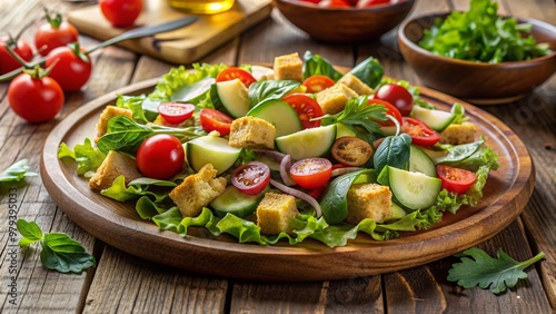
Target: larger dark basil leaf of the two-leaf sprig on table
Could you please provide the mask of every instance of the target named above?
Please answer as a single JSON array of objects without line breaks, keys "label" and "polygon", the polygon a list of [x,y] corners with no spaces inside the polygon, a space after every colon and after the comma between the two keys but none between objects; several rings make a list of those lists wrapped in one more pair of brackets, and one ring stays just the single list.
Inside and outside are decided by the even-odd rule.
[{"label": "larger dark basil leaf of the two-leaf sprig on table", "polygon": [[49,233],[41,241],[40,261],[44,267],[60,273],[81,273],[97,264],[95,256],[67,234]]}]

